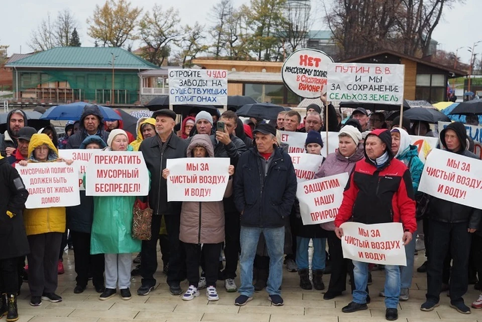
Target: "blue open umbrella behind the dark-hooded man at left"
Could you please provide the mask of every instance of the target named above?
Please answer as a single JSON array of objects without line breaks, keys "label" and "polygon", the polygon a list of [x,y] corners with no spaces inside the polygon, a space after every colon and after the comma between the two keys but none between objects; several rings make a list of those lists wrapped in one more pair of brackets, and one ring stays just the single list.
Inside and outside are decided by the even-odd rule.
[{"label": "blue open umbrella behind the dark-hooded man at left", "polygon": [[[57,121],[69,121],[79,120],[82,110],[85,105],[90,105],[85,102],[75,102],[71,104],[57,105],[49,108],[40,119],[57,120]],[[104,118],[104,121],[115,121],[121,119],[110,107],[99,106],[100,112]]]}]

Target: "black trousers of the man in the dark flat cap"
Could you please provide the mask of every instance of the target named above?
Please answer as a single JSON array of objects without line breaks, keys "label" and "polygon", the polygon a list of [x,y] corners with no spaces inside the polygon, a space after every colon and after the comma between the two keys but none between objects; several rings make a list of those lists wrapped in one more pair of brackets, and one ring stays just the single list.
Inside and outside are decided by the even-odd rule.
[{"label": "black trousers of the man in the dark flat cap", "polygon": [[[142,241],[141,250],[141,275],[143,285],[156,285],[154,273],[157,270],[157,240],[161,230],[161,216],[152,216],[152,238]],[[166,230],[169,238],[169,271],[167,273],[167,283],[169,285],[179,285],[186,274],[186,261],[184,247],[179,240],[180,215],[165,216]],[[219,254],[218,254],[219,256]],[[217,261],[216,261],[217,263]]]}]

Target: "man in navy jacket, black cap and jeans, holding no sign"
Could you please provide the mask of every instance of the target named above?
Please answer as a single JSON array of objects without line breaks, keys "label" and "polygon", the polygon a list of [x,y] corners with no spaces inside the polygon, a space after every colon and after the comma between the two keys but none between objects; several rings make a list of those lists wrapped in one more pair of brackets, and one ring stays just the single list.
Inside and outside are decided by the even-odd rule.
[{"label": "man in navy jacket, black cap and jeans, holding no sign", "polygon": [[273,305],[283,305],[285,217],[295,200],[296,175],[291,157],[277,145],[273,126],[259,124],[253,134],[256,145],[239,158],[234,177],[234,203],[241,213],[241,286],[234,304],[245,305],[252,299],[253,261],[263,233],[270,256],[266,290]]}]

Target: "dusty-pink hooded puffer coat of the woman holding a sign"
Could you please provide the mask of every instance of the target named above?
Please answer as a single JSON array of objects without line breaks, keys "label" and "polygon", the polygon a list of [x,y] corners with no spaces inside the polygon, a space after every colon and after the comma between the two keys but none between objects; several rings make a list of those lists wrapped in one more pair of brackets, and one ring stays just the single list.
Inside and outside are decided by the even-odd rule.
[{"label": "dusty-pink hooded puffer coat of the woman holding a sign", "polygon": [[[214,157],[214,149],[207,134],[196,134],[187,147],[186,154],[192,157],[192,149],[203,146]],[[232,180],[227,183],[224,197],[232,193]],[[217,244],[224,241],[224,207],[222,201],[184,201],[181,208],[179,239],[190,244]]]}]

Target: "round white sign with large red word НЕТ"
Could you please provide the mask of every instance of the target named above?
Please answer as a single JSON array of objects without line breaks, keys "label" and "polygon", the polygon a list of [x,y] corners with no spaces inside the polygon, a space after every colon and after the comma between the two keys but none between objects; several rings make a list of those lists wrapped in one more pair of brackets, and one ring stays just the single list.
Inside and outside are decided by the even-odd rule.
[{"label": "round white sign with large red word \u041d\u0415\u0422", "polygon": [[326,93],[328,64],[333,59],[320,50],[298,49],[281,68],[283,83],[293,93],[304,98],[318,98]]}]

